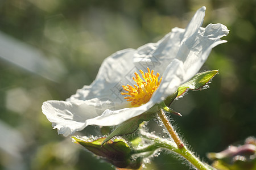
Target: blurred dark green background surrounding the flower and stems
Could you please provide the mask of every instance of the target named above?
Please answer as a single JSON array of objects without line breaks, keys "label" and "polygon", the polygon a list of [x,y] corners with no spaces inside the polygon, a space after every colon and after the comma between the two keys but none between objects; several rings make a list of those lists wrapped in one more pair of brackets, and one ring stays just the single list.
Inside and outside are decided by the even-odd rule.
[{"label": "blurred dark green background surrounding the flower and stems", "polygon": [[[210,88],[175,101],[177,130],[208,163],[208,152],[255,136],[255,0],[1,0],[0,169],[114,169],[57,135],[43,101],[67,99],[92,83],[104,58],[185,28],[201,6],[204,27],[222,23],[230,33],[202,68],[220,71]],[[162,153],[146,167],[188,169],[181,162]]]}]

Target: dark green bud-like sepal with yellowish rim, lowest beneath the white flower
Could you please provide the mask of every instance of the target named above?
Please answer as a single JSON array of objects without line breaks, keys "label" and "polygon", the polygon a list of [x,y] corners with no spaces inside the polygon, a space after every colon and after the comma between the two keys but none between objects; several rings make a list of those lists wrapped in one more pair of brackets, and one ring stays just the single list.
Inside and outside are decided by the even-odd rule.
[{"label": "dark green bud-like sepal with yellowish rim, lowest beneath the white flower", "polygon": [[93,154],[100,156],[107,162],[118,168],[138,169],[142,165],[142,159],[133,159],[133,148],[131,148],[125,139],[115,138],[109,140],[102,146],[105,138],[90,139],[72,137],[75,143],[79,143]]}]

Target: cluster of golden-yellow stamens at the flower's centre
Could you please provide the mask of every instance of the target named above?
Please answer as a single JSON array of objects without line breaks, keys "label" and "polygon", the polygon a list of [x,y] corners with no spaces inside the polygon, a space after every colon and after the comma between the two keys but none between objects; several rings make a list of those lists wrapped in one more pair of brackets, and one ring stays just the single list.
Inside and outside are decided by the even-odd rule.
[{"label": "cluster of golden-yellow stamens at the flower's centre", "polygon": [[154,75],[154,70],[150,71],[148,68],[147,71],[147,73],[144,73],[142,70],[139,70],[144,80],[138,73],[134,73],[135,77],[133,77],[133,80],[137,83],[137,85],[133,85],[134,87],[129,84],[127,84],[127,86],[122,86],[123,90],[127,92],[122,92],[121,94],[128,95],[124,98],[127,101],[131,101],[132,107],[139,107],[140,105],[147,103],[161,83],[162,77],[158,81],[159,73]]}]

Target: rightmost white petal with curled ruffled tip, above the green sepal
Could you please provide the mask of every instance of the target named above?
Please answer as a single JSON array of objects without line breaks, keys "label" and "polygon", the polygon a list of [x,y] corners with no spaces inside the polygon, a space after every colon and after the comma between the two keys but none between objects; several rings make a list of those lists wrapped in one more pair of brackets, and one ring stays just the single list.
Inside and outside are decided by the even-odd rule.
[{"label": "rightmost white petal with curled ruffled tip, above the green sepal", "polygon": [[214,46],[226,42],[220,38],[228,35],[228,32],[225,25],[209,24],[206,28],[200,28],[196,36],[183,42],[176,58],[184,63],[184,82],[200,70]]}]

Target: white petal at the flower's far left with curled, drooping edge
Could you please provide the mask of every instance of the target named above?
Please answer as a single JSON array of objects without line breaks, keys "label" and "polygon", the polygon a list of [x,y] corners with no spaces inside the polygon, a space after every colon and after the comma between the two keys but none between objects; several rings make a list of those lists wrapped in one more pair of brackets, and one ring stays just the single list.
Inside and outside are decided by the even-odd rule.
[{"label": "white petal at the flower's far left with curled, drooping edge", "polygon": [[102,112],[112,109],[119,110],[126,108],[128,103],[117,104],[110,99],[100,100],[98,98],[90,100],[72,100],[72,101],[56,101],[49,100],[43,103],[42,111],[52,122],[53,129],[58,130],[59,134],[64,136],[75,133],[84,129],[92,123],[87,122],[91,118],[105,117],[107,114]]}]

